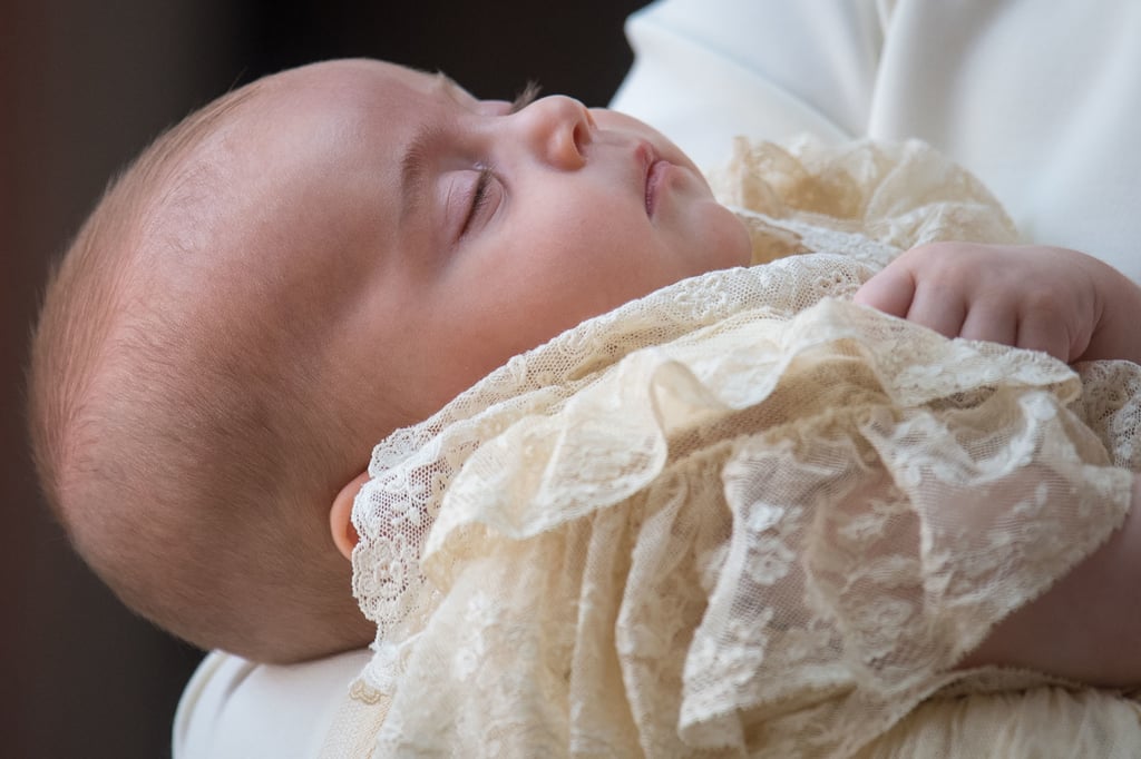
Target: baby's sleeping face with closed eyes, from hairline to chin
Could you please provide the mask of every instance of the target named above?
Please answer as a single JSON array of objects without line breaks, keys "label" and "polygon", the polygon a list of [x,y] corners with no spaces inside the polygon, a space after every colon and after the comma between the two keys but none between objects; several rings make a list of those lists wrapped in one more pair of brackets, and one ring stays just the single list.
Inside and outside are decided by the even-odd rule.
[{"label": "baby's sleeping face with closed eyes, from hairline to chin", "polygon": [[237,268],[307,293],[268,301],[348,375],[383,374],[356,390],[386,392],[398,423],[583,319],[748,262],[677,147],[566,97],[516,108],[332,62],[264,81],[224,144],[246,209]]}]

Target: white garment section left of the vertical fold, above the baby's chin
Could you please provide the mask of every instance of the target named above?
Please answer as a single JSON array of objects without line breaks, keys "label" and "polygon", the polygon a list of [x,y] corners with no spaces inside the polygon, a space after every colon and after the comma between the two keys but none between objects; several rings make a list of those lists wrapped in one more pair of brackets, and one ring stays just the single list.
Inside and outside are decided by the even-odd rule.
[{"label": "white garment section left of the vertical fold, above the baby's chin", "polygon": [[723,161],[736,134],[863,134],[888,5],[659,0],[626,21],[634,63],[610,107],[706,166]]}]

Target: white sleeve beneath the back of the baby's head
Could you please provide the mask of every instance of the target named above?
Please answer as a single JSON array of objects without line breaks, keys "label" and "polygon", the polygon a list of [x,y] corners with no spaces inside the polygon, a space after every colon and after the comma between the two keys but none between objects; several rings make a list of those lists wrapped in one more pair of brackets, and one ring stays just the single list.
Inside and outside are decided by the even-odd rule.
[{"label": "white sleeve beneath the back of the baby's head", "polygon": [[175,715],[175,759],[310,759],[322,745],[367,650],[304,664],[256,664],[211,652]]}]

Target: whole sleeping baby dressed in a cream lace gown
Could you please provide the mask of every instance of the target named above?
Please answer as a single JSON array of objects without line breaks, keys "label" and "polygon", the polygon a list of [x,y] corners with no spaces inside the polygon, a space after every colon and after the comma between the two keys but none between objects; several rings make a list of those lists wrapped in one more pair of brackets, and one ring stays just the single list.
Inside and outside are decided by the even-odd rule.
[{"label": "whole sleeping baby dressed in a cream lace gown", "polygon": [[378,62],[227,95],[49,286],[49,500],[191,643],[374,642],[334,752],[826,756],[1135,682],[1138,379],[1067,362],[1136,359],[1141,292],[917,144],[734,171]]}]

